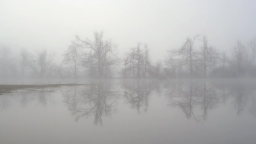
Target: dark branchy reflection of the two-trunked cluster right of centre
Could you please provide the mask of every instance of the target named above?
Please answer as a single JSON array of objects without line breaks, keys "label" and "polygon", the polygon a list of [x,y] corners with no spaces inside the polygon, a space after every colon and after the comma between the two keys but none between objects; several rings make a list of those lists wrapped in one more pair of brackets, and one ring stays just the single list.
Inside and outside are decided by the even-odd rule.
[{"label": "dark branchy reflection of the two-trunked cluster right of centre", "polygon": [[[209,87],[206,83],[203,85],[184,84],[183,87],[176,89],[176,94],[173,96],[179,99],[173,100],[171,105],[180,107],[188,119],[193,117],[198,122],[201,118],[206,120],[208,109],[214,108],[219,99],[216,89]],[[198,106],[201,106],[203,115],[195,115],[193,109]]]}]

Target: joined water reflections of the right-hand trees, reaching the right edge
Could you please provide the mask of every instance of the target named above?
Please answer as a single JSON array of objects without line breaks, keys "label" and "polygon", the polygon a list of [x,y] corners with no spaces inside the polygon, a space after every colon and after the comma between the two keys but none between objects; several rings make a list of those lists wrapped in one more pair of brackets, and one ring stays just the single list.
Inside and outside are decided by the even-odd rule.
[{"label": "joined water reflections of the right-hand trees, reaching the right edge", "polygon": [[[256,95],[252,85],[244,83],[212,84],[207,81],[189,83],[168,83],[164,85],[165,96],[170,99],[170,106],[181,108],[188,119],[205,121],[208,111],[233,99],[237,115],[248,106],[249,112],[256,113]],[[197,114],[195,114],[195,109]],[[199,109],[199,110],[198,110]],[[198,112],[201,111],[201,112]]]}]

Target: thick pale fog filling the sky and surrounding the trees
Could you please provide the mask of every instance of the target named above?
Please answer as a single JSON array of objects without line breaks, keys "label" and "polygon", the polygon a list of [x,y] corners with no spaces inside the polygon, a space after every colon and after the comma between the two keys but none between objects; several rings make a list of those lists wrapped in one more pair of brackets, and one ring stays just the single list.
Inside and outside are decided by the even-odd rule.
[{"label": "thick pale fog filling the sky and surrounding the trees", "polygon": [[[224,77],[224,71],[234,69],[245,72],[230,77],[252,76],[249,73],[254,71],[256,54],[255,5],[254,0],[1,0],[0,59],[1,69],[6,71],[1,72],[1,77],[6,77],[5,73],[8,77],[92,76],[88,73],[94,73],[94,77],[155,77],[160,73],[160,77],[209,77],[213,70],[218,73],[215,77]],[[90,58],[97,53],[91,51],[88,43],[82,43],[87,40],[95,44],[94,34],[101,32],[102,43],[111,40],[108,60]],[[189,48],[188,37],[191,42],[195,39],[192,59],[178,52],[184,45]],[[76,75],[74,61],[65,60],[65,53],[67,56],[74,43],[80,49]],[[214,48],[210,48],[214,56],[205,57],[206,62],[202,47]],[[144,64],[131,56],[136,48],[143,53],[138,58]],[[21,53],[27,59],[22,59]],[[129,53],[133,59],[129,59]],[[40,56],[45,57],[43,66]],[[88,61],[97,68],[90,68]],[[103,61],[108,61],[107,66]],[[133,61],[132,66],[128,61]],[[221,65],[225,68],[220,69]],[[126,66],[130,70],[125,70]],[[111,75],[106,71],[111,71]],[[182,75],[170,74],[173,72]]]}]

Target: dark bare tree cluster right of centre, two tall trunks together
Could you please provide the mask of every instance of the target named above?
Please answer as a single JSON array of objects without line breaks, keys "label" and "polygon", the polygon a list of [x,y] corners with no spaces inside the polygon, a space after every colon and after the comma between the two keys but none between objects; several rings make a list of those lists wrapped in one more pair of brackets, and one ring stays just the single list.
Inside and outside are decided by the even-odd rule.
[{"label": "dark bare tree cluster right of centre, two tall trunks together", "polygon": [[[195,43],[199,46],[196,48]],[[218,64],[219,53],[206,36],[188,37],[181,48],[168,51],[164,69],[167,77],[208,77]],[[179,74],[179,75],[177,75]]]}]

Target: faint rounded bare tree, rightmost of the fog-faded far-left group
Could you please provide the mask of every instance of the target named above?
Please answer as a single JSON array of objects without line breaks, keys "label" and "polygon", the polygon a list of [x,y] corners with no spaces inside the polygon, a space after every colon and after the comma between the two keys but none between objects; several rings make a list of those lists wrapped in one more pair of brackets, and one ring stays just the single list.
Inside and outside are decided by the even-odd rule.
[{"label": "faint rounded bare tree, rightmost of the fog-faded far-left group", "polygon": [[31,65],[32,69],[40,77],[45,76],[46,71],[50,68],[55,53],[48,53],[45,49],[37,52],[37,55],[34,59],[34,64]]}]

